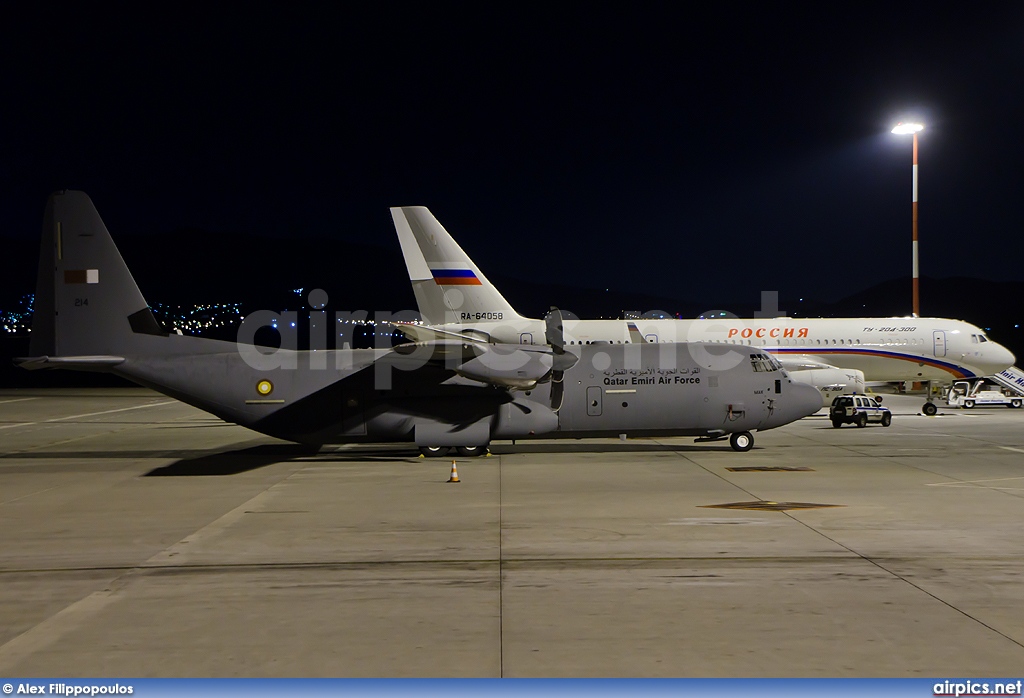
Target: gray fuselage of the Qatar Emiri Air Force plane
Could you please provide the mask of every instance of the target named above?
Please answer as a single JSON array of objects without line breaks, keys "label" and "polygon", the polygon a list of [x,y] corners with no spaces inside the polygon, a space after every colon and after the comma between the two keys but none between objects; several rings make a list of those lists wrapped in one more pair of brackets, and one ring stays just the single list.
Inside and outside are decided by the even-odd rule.
[{"label": "gray fuselage of the Qatar Emiri Air Force plane", "polygon": [[[815,390],[749,347],[585,344],[566,349],[574,360],[557,377],[513,392],[459,376],[461,356],[452,367],[417,356],[415,347],[328,351],[325,361],[308,351],[264,354],[196,337],[133,339],[138,353],[111,356],[103,369],[305,443],[721,436],[774,429],[821,406]],[[254,365],[257,355],[267,364]],[[488,362],[502,367],[501,357]]]}]

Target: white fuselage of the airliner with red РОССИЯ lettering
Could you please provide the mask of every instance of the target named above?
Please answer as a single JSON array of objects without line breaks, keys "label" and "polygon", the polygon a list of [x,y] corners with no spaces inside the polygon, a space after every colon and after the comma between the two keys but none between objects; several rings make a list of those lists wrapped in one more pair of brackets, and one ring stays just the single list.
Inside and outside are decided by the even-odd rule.
[{"label": "white fuselage of the airliner with red \u0420\u041e\u0421\u0421\u0418\u042f lettering", "polygon": [[[632,325],[632,326],[631,326]],[[494,341],[541,344],[542,320],[464,322]],[[783,365],[827,364],[863,373],[866,381],[939,381],[991,376],[1014,363],[1013,353],[969,322],[941,317],[569,320],[567,345],[639,341],[712,342],[760,347]]]}]

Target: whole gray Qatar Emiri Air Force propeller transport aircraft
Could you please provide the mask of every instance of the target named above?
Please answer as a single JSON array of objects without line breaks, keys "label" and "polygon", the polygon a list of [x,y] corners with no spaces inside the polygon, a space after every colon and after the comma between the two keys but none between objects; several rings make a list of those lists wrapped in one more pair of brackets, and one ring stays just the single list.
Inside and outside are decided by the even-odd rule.
[{"label": "whole gray Qatar Emiri Air Force propeller transport aircraft", "polygon": [[[245,326],[246,322],[243,322]],[[813,413],[818,392],[769,354],[699,343],[565,346],[436,340],[368,349],[257,348],[166,332],[92,201],[50,195],[25,368],[108,372],[269,436],[414,442],[428,455],[493,439],[730,437]],[[241,335],[240,335],[241,336]]]}]

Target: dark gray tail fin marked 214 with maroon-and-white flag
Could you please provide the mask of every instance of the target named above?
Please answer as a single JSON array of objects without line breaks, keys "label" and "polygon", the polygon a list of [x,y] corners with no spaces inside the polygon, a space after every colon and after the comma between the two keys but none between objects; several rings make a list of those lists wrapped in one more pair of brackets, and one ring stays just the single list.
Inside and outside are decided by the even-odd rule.
[{"label": "dark gray tail fin marked 214 with maroon-and-white flag", "polygon": [[139,334],[165,333],[92,200],[82,191],[50,194],[43,214],[31,354],[117,354]]}]

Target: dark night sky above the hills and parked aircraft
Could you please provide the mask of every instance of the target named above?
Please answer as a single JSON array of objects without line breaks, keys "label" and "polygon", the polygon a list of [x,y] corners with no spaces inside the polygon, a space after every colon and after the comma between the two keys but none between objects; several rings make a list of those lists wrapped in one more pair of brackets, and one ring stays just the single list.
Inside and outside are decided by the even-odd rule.
[{"label": "dark night sky above the hills and parked aircraft", "polygon": [[0,16],[3,236],[78,188],[116,239],[397,256],[387,209],[423,205],[492,275],[837,299],[909,279],[910,138],[889,131],[921,120],[922,273],[1024,280],[1019,3],[22,4]]}]

